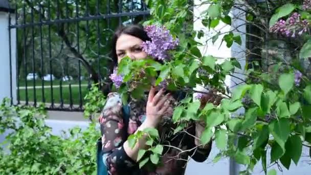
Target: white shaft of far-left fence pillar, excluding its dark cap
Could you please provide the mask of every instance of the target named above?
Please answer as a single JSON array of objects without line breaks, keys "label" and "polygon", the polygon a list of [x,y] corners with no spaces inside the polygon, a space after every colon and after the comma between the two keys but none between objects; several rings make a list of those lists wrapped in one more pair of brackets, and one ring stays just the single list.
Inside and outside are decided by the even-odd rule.
[{"label": "white shaft of far-left fence pillar, excluding its dark cap", "polygon": [[[11,15],[11,23],[15,24],[15,16]],[[9,49],[9,14],[0,12],[0,100],[11,97],[10,86],[10,49]],[[12,94],[16,102],[16,30],[11,30],[11,71]]]}]

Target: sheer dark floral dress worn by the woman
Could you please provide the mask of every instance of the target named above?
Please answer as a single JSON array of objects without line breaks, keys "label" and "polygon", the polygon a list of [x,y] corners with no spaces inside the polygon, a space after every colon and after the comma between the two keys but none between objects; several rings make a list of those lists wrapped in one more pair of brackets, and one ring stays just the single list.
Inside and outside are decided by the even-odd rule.
[{"label": "sheer dark floral dress worn by the woman", "polygon": [[[172,107],[163,117],[158,128],[160,133],[160,142],[164,146],[162,162],[157,167],[142,169],[139,164],[129,158],[124,151],[123,143],[127,137],[134,134],[137,128],[145,120],[147,96],[141,100],[129,99],[130,117],[128,125],[123,121],[122,100],[119,94],[110,93],[99,117],[102,134],[103,162],[108,168],[108,174],[178,174],[185,172],[188,156],[197,162],[203,162],[207,159],[211,145],[206,148],[195,148],[194,143],[195,125],[189,123],[186,132],[173,134],[174,124],[171,120]],[[172,99],[172,106],[177,105],[177,100]],[[191,136],[192,135],[192,136]]]}]

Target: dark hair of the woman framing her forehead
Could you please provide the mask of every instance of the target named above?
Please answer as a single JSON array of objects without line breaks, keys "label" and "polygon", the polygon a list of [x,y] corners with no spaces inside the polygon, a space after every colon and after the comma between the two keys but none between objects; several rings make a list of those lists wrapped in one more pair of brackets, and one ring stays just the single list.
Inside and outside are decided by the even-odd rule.
[{"label": "dark hair of the woman framing her forehead", "polygon": [[119,27],[112,39],[112,51],[111,51],[111,57],[113,59],[113,63],[115,65],[118,64],[118,56],[117,56],[117,51],[116,51],[116,43],[118,38],[122,34],[127,34],[131,36],[135,36],[137,38],[140,38],[143,41],[148,41],[150,38],[147,35],[147,32],[144,30],[144,27],[142,25],[128,25],[128,26],[121,26]]}]

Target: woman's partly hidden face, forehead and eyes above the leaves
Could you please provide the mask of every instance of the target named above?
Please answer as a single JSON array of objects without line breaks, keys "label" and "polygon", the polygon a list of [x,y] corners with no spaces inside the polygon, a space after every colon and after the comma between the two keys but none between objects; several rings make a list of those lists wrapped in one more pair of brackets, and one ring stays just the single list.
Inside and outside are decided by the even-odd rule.
[{"label": "woman's partly hidden face, forehead and eyes above the leaves", "polygon": [[142,50],[143,40],[128,34],[121,34],[116,42],[116,52],[118,62],[125,56],[132,59],[143,59],[147,57],[146,52]]}]

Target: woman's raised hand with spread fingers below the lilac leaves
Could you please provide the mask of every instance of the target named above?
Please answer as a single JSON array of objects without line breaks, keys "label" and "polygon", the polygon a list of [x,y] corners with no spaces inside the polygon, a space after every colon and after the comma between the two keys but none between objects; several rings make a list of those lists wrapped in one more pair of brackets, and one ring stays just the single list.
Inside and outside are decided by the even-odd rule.
[{"label": "woman's raised hand with spread fingers below the lilac leaves", "polygon": [[[147,106],[146,106],[146,122],[150,127],[157,127],[161,122],[162,116],[169,107],[170,94],[166,94],[163,98],[165,90],[161,89],[157,94],[156,89],[151,87],[149,91]],[[161,99],[162,98],[162,99]]]}]

